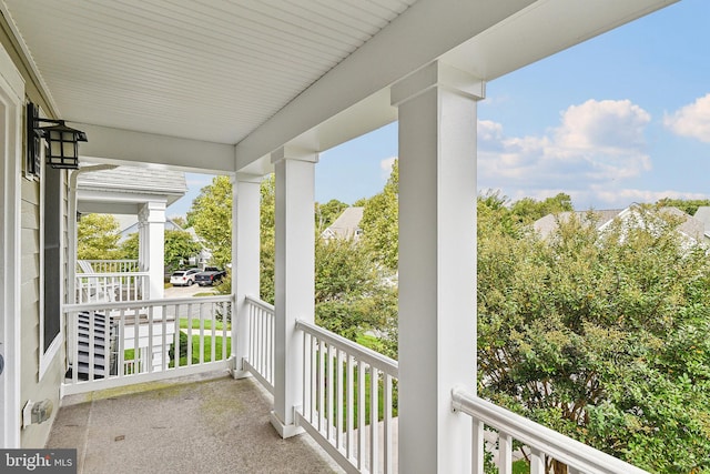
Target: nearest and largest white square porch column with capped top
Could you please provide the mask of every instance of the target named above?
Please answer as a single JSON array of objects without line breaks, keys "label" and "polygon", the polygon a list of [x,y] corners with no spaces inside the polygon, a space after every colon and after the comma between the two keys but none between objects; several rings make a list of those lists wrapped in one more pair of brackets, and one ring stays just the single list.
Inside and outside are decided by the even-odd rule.
[{"label": "nearest and largest white square porch column with capped top", "polygon": [[392,89],[399,111],[399,472],[470,472],[476,387],[476,100],[434,62]]}]

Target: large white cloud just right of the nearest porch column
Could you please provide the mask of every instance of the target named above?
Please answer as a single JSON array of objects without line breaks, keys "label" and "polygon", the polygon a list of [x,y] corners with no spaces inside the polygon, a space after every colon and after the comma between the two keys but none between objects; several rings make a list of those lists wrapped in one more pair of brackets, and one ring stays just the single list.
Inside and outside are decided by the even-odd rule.
[{"label": "large white cloud just right of the nearest porch column", "polygon": [[480,121],[479,185],[535,196],[638,177],[651,168],[643,137],[650,120],[628,100],[589,100],[569,107],[541,137],[506,138],[499,123]]}]

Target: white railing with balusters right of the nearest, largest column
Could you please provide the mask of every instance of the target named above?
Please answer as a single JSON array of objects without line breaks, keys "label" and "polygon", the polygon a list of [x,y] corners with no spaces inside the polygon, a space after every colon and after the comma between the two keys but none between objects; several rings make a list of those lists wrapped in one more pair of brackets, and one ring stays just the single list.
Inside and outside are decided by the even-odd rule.
[{"label": "white railing with balusters right of the nearest, largest column", "polygon": [[546,462],[559,461],[569,474],[648,474],[601,451],[565,436],[524,416],[457,387],[452,391],[453,409],[473,417],[473,472],[484,472],[484,427],[497,431],[496,465],[500,474],[513,472],[513,441],[523,444],[530,460],[530,474],[544,474]]}]

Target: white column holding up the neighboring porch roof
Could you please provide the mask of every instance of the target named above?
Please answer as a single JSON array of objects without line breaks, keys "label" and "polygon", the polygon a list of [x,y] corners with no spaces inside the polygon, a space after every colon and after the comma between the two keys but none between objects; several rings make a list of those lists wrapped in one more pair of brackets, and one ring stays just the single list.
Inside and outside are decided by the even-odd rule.
[{"label": "white column holding up the neighboring porch roof", "polygon": [[151,201],[139,212],[140,266],[149,272],[148,295],[143,299],[161,299],[164,294],[165,258],[165,203]]}]

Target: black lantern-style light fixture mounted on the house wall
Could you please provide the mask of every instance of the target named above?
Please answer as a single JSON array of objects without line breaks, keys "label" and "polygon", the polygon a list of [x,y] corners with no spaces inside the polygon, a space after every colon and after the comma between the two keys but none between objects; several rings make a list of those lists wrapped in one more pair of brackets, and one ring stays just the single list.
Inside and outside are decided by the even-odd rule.
[{"label": "black lantern-style light fixture mounted on the house wall", "polygon": [[[41,122],[52,125],[41,127]],[[28,165],[39,173],[40,139],[47,140],[47,164],[52,168],[75,170],[79,168],[79,142],[87,141],[81,130],[67,127],[63,120],[39,117],[37,105],[27,104],[27,153]]]}]

